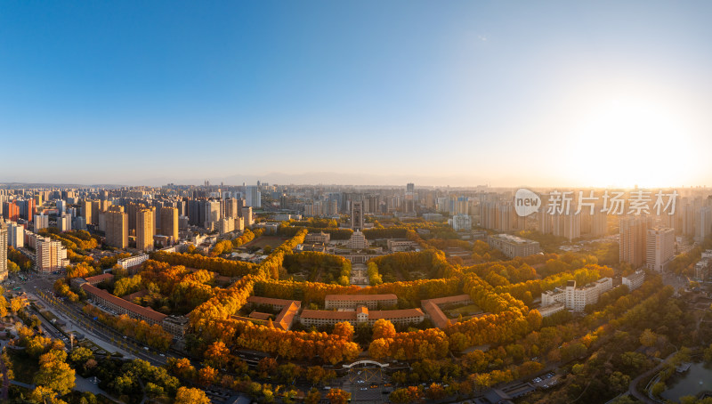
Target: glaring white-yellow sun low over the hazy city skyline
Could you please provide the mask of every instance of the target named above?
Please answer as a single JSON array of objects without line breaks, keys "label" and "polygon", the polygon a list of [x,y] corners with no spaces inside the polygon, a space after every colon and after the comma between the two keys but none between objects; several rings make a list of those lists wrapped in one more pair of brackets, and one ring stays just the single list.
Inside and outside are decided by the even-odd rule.
[{"label": "glaring white-yellow sun low over the hazy city skyline", "polygon": [[[616,98],[590,109],[570,133],[570,178],[595,187],[664,188],[693,167],[689,131],[673,106]],[[689,153],[688,153],[689,154]]]}]

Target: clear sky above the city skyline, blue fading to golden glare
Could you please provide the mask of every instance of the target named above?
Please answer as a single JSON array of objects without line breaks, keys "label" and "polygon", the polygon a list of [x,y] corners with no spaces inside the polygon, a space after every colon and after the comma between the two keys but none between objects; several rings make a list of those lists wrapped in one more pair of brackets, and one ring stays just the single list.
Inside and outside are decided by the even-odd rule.
[{"label": "clear sky above the city skyline, blue fading to golden glare", "polygon": [[2,2],[0,181],[712,183],[711,9]]}]

